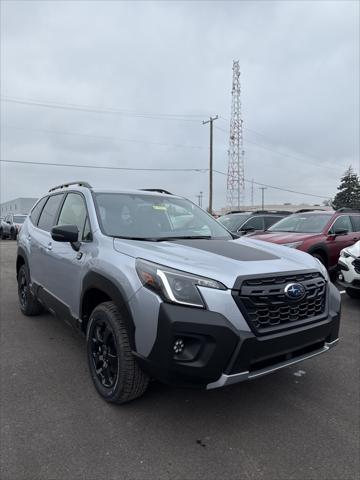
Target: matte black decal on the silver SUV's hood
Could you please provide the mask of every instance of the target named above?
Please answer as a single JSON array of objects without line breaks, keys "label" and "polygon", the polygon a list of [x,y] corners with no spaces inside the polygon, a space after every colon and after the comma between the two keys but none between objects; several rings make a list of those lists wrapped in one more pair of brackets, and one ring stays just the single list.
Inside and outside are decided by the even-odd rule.
[{"label": "matte black decal on the silver SUV's hood", "polygon": [[242,245],[230,240],[175,240],[186,247],[198,248],[205,252],[215,253],[222,257],[232,258],[241,262],[253,262],[262,260],[276,260],[279,257],[264,250]]}]

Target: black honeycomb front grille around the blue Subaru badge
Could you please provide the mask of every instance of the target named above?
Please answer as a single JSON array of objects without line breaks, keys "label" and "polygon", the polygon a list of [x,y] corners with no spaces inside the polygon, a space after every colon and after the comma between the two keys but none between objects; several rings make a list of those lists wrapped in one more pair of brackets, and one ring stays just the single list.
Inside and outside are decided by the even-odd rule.
[{"label": "black honeycomb front grille around the blue Subaru badge", "polygon": [[[284,293],[289,283],[301,283],[305,287],[304,298],[290,300]],[[319,272],[251,277],[241,281],[233,297],[250,328],[264,335],[322,318],[326,281]]]}]

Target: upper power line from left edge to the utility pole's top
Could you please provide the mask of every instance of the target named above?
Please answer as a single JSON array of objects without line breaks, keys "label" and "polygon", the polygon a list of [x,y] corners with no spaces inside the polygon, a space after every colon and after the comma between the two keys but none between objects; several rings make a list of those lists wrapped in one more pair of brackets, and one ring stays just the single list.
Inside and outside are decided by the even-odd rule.
[{"label": "upper power line from left edge to the utility pole's top", "polygon": [[199,119],[204,115],[200,114],[175,114],[175,113],[152,113],[152,112],[134,112],[131,110],[121,110],[111,107],[97,107],[93,105],[81,105],[73,103],[58,103],[50,101],[41,101],[33,100],[26,98],[16,98],[16,97],[7,97],[2,96],[0,100],[7,103],[15,103],[19,105],[42,107],[42,108],[53,108],[60,110],[74,110],[81,112],[90,112],[90,113],[103,113],[111,115],[123,115],[127,117],[135,118],[148,118],[153,120],[178,120],[184,122],[193,122],[198,123]]}]

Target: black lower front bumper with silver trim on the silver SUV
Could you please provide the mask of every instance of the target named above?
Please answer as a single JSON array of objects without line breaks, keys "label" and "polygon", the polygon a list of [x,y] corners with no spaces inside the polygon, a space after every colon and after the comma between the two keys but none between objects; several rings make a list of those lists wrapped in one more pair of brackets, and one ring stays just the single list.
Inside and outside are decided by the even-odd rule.
[{"label": "black lower front bumper with silver trim on the silver SUV", "polygon": [[[217,388],[257,378],[327,352],[338,341],[340,312],[281,333],[239,331],[223,315],[163,303],[148,357],[134,353],[152,377],[176,386]],[[184,349],[174,351],[177,340]]]}]

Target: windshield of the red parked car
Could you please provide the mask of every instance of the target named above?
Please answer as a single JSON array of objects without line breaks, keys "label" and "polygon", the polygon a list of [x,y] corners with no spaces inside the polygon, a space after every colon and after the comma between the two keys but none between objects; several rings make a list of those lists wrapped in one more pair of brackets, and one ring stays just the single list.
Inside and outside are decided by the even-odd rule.
[{"label": "windshield of the red parked car", "polygon": [[320,233],[331,218],[331,214],[297,213],[283,218],[272,225],[269,232]]}]

